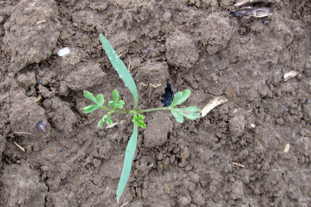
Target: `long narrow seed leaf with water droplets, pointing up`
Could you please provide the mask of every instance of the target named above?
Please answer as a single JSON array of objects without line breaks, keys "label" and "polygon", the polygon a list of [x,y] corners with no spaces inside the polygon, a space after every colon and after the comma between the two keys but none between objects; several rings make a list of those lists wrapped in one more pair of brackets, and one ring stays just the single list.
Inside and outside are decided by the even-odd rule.
[{"label": "long narrow seed leaf with water droplets, pointing up", "polygon": [[131,73],[128,71],[122,60],[119,58],[118,54],[114,50],[114,48],[109,43],[108,39],[103,35],[99,35],[100,42],[103,45],[103,48],[112,64],[115,68],[119,77],[125,83],[125,86],[131,91],[134,97],[134,109],[137,109],[138,106],[138,94],[135,81],[132,78]]}]

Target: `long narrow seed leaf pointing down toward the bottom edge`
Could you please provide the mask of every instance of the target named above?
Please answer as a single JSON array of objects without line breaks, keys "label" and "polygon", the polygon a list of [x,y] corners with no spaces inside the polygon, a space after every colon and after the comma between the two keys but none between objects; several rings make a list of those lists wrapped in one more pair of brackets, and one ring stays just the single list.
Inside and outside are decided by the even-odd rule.
[{"label": "long narrow seed leaf pointing down toward the bottom edge", "polygon": [[126,186],[126,183],[128,182],[128,177],[130,176],[130,172],[132,168],[132,161],[133,161],[135,150],[136,150],[137,136],[138,136],[137,122],[134,122],[133,133],[132,133],[130,140],[128,141],[128,146],[126,147],[123,169],[122,169],[122,173],[121,173],[121,177],[120,177],[120,181],[118,185],[118,190],[117,190],[117,201],[118,202]]}]

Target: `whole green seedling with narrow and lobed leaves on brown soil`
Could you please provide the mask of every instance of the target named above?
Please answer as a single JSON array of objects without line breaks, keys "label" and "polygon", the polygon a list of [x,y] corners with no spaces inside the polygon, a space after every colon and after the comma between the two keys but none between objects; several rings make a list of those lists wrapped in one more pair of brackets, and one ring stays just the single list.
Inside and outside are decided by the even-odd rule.
[{"label": "whole green seedling with narrow and lobed leaves on brown soil", "polygon": [[128,87],[128,89],[131,91],[133,97],[134,97],[134,107],[131,111],[126,110],[120,110],[123,109],[123,105],[125,104],[124,101],[119,100],[119,93],[117,90],[114,90],[112,92],[113,101],[108,101],[108,106],[113,108],[107,108],[104,106],[104,96],[103,94],[93,96],[89,91],[83,91],[84,96],[91,101],[95,103],[95,105],[89,105],[82,110],[84,113],[91,113],[95,111],[96,109],[104,109],[108,111],[106,115],[100,121],[98,122],[98,127],[102,127],[104,122],[107,124],[112,124],[111,115],[113,113],[126,113],[132,115],[132,122],[134,123],[134,129],[132,136],[130,137],[130,140],[128,141],[128,145],[126,147],[125,157],[124,157],[124,164],[123,169],[118,185],[117,190],[117,201],[119,202],[119,199],[123,193],[123,190],[125,188],[126,183],[128,182],[128,177],[131,172],[132,167],[132,161],[136,150],[136,144],[137,144],[137,136],[138,136],[138,126],[145,128],[146,124],[144,123],[145,116],[142,115],[142,113],[156,111],[156,110],[169,110],[172,112],[173,116],[175,117],[176,121],[179,123],[183,122],[183,117],[186,117],[191,120],[195,120],[197,118],[200,118],[200,114],[198,113],[201,109],[197,108],[195,106],[190,106],[186,108],[174,108],[175,106],[183,103],[185,100],[188,99],[190,95],[190,90],[184,90],[183,92],[178,92],[172,103],[167,107],[159,107],[159,108],[148,108],[148,109],[140,109],[138,110],[138,94],[137,94],[137,88],[136,84],[129,73],[128,69],[124,65],[124,63],[119,58],[118,54],[114,51],[114,48],[110,45],[109,41],[106,39],[106,37],[103,34],[99,35],[100,41],[104,47],[105,52],[107,53],[107,56],[112,64],[112,66],[115,68],[117,73],[119,74],[119,77],[123,80],[125,83],[125,86]]}]

